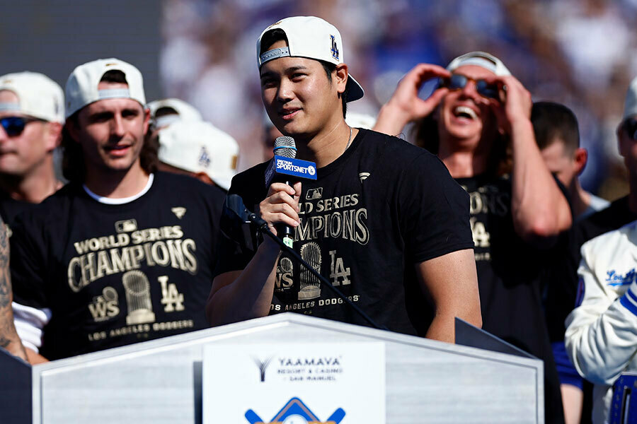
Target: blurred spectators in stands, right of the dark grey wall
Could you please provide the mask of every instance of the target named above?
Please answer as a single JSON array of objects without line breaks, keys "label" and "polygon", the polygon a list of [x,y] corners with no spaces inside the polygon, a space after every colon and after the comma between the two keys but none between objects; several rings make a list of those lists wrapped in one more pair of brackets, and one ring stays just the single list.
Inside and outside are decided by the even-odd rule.
[{"label": "blurred spectators in stands, right of the dark grey wall", "polygon": [[[351,112],[376,116],[414,64],[447,64],[466,52],[490,52],[534,98],[575,112],[582,146],[591,153],[580,175],[584,187],[607,199],[627,192],[614,128],[622,112],[616,100],[637,74],[637,1],[166,0],[162,90],[195,105],[239,141],[241,170],[263,155],[253,147],[263,134],[260,88],[245,52],[254,48],[261,28],[278,18],[309,15],[322,16],[343,33],[348,62],[366,90]],[[229,86],[232,95],[220,95]]]}]

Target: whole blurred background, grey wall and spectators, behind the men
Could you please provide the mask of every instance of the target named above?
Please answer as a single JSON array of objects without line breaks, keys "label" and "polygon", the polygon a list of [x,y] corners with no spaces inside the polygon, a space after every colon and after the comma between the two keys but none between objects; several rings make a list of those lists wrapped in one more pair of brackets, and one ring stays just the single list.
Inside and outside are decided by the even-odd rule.
[{"label": "whole blurred background, grey wall and spectators, behind the men", "polygon": [[[8,0],[3,0],[8,3]],[[162,0],[11,2],[0,18],[1,73],[40,71],[64,86],[72,67],[115,56],[144,74],[148,100],[195,105],[239,142],[239,170],[263,160],[256,39],[277,18],[315,15],[343,35],[366,90],[350,110],[375,116],[418,62],[471,50],[502,59],[534,100],[570,107],[589,163],[585,189],[628,192],[615,129],[637,75],[637,0]],[[427,87],[423,88],[427,95]],[[403,135],[409,139],[408,131]]]}]

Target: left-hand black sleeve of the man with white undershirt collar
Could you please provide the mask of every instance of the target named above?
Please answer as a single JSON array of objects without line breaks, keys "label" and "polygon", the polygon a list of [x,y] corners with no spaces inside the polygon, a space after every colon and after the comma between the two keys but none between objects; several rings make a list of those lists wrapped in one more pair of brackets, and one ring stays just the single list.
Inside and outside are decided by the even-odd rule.
[{"label": "left-hand black sleeve of the man with white undershirt collar", "polygon": [[42,237],[42,229],[31,213],[18,216],[11,235],[13,301],[38,309],[50,307],[45,281],[46,248]]}]

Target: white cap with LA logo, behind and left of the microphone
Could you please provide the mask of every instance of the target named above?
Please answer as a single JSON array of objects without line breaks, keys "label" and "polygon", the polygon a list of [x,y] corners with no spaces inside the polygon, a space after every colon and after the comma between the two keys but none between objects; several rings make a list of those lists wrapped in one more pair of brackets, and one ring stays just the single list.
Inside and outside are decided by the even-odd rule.
[{"label": "white cap with LA logo, behind and left of the microphone", "polygon": [[189,172],[205,172],[226,190],[236,174],[239,144],[205,121],[180,121],[159,131],[159,160]]}]

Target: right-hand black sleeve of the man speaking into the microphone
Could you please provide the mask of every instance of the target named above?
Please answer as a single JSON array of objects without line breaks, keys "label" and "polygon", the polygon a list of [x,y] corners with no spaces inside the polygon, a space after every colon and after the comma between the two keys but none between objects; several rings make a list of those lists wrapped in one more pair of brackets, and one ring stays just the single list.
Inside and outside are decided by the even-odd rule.
[{"label": "right-hand black sleeve of the man speaking into the microphone", "polygon": [[399,189],[401,232],[413,263],[474,247],[469,194],[434,155],[406,167]]}]

